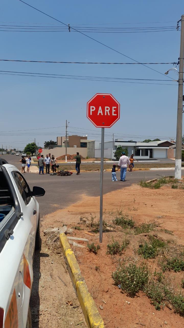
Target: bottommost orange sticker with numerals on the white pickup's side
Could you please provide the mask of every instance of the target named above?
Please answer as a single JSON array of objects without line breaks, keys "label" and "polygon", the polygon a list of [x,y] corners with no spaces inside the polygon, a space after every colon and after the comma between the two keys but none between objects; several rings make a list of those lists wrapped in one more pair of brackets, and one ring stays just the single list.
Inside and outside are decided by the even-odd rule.
[{"label": "bottommost orange sticker with numerals on the white pickup's side", "polygon": [[5,328],[18,328],[17,300],[15,289],[11,297],[8,312],[5,319]]}]

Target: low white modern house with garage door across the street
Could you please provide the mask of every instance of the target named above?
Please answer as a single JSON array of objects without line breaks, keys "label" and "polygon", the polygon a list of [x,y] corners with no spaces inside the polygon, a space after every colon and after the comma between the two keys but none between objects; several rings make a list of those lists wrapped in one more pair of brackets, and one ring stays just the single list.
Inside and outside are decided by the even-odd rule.
[{"label": "low white modern house with garage door across the street", "polygon": [[[173,143],[168,140],[140,142],[115,139],[114,145],[113,141],[104,142],[104,157],[114,159],[114,153],[119,145],[121,145],[123,149],[128,149],[129,156],[134,154],[136,159],[146,160],[150,158],[167,158],[167,152]],[[98,149],[95,147],[95,157],[101,157],[101,143]]]}]

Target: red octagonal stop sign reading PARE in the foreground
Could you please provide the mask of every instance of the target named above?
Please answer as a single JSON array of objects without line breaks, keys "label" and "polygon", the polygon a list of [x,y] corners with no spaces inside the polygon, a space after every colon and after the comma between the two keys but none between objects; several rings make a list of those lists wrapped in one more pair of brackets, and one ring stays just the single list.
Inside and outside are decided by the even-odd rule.
[{"label": "red octagonal stop sign reading PARE in the foreground", "polygon": [[120,104],[110,93],[96,93],[87,103],[87,118],[97,128],[111,128],[120,118]]}]

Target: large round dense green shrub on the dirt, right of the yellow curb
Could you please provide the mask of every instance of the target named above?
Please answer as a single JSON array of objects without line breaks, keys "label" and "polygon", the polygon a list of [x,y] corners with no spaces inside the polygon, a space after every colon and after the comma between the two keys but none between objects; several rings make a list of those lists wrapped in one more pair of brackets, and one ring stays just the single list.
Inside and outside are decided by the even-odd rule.
[{"label": "large round dense green shrub on the dirt, right of the yellow curb", "polygon": [[127,295],[134,297],[148,282],[148,268],[145,264],[136,266],[129,263],[118,267],[112,274],[115,285],[119,286]]}]

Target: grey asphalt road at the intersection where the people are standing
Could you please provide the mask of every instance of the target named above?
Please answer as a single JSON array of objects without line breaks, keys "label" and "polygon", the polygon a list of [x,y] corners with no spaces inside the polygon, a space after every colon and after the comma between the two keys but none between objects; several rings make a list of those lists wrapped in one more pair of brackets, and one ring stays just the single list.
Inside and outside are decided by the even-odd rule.
[{"label": "grey asphalt road at the intersection where the people are standing", "polygon": [[[7,155],[4,156],[9,164],[20,168],[19,160],[21,156]],[[126,181],[112,182],[111,172],[104,172],[103,192],[104,194],[118,190],[132,183],[139,182],[141,179],[149,180],[159,177],[159,175],[174,175],[174,170],[167,171],[134,171],[127,172]],[[86,172],[71,176],[57,176],[36,173],[26,173],[25,178],[32,189],[33,186],[40,186],[46,190],[43,197],[37,197],[40,204],[41,216],[51,213],[55,210],[62,209],[78,200],[81,195],[99,196],[100,195],[100,172]],[[117,172],[117,178],[120,180],[120,172]],[[56,204],[53,206],[53,204]]]}]

